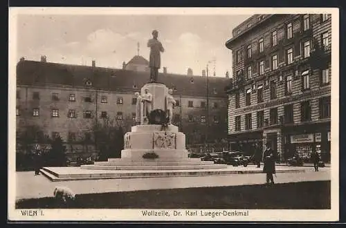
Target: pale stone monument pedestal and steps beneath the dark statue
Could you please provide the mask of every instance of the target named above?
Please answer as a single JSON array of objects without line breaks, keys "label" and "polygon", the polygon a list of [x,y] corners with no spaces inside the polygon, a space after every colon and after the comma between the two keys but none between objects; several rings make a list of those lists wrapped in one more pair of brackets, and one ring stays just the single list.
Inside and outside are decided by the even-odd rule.
[{"label": "pale stone monument pedestal and steps beneath the dark statue", "polygon": [[[142,97],[152,97],[149,110],[167,113],[166,97],[169,89],[164,84],[149,83],[141,89]],[[169,105],[168,105],[169,106]],[[143,113],[145,115],[145,108]],[[121,158],[110,158],[108,162],[82,165],[82,169],[221,169],[225,164],[203,162],[199,158],[188,158],[185,134],[173,124],[138,124],[124,135]]]}]

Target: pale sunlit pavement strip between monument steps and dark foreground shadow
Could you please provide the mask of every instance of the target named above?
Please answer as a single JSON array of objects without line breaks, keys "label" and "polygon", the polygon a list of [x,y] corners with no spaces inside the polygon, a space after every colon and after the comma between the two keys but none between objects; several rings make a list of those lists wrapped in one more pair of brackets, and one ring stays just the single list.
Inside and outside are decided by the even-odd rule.
[{"label": "pale sunlit pavement strip between monument steps and dark foreground shadow", "polygon": [[[262,169],[262,167],[260,168]],[[329,167],[320,168],[314,172],[311,167],[300,167],[302,173],[277,173],[275,182],[302,182],[316,180],[331,180]],[[42,198],[53,196],[56,186],[66,186],[76,194],[103,193],[115,191],[136,191],[149,189],[178,189],[190,187],[221,187],[246,184],[262,184],[266,180],[264,173],[212,175],[194,177],[169,178],[125,178],[108,180],[74,180],[51,182],[44,175],[34,175],[34,171],[16,173],[16,199]]]}]

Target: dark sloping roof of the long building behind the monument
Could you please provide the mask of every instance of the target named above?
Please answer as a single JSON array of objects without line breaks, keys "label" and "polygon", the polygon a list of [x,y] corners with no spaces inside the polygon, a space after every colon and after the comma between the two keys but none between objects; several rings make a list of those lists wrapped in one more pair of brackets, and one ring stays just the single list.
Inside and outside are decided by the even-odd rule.
[{"label": "dark sloping roof of the long building behind the monument", "polygon": [[[209,95],[226,97],[226,77],[208,77]],[[206,77],[159,73],[158,82],[175,88],[175,94],[206,96]],[[88,82],[88,83],[87,83]],[[138,91],[149,82],[147,72],[57,64],[22,60],[17,64],[17,84],[27,86],[67,86],[73,88],[96,88],[110,91]],[[215,93],[216,92],[216,93]]]}]

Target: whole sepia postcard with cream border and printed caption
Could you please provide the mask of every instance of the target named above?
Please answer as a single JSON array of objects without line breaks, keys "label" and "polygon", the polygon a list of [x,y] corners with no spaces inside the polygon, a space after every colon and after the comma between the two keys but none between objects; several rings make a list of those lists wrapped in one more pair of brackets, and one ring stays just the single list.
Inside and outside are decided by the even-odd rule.
[{"label": "whole sepia postcard with cream border and printed caption", "polygon": [[338,17],[10,8],[8,220],[338,220]]}]

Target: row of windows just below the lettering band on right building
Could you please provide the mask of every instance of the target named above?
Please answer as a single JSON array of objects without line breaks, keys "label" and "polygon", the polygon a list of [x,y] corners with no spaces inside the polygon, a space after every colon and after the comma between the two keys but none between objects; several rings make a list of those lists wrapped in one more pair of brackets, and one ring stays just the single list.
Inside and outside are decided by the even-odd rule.
[{"label": "row of windows just below the lettering band on right building", "polygon": [[[329,118],[331,116],[331,99],[330,97],[322,97],[319,99],[319,110],[320,110],[320,119]],[[257,129],[262,128],[263,126],[276,125],[278,124],[277,108],[271,108],[269,111],[269,121],[264,120],[264,111],[257,111]],[[311,120],[311,106],[310,102],[301,102],[300,103],[300,121],[307,122]],[[293,104],[284,106],[284,116],[280,117],[280,122],[285,124],[293,123]],[[265,125],[264,125],[265,124]],[[252,126],[252,113],[245,115],[245,129],[251,130]],[[241,116],[238,115],[235,117],[235,131],[241,131]]]}]

